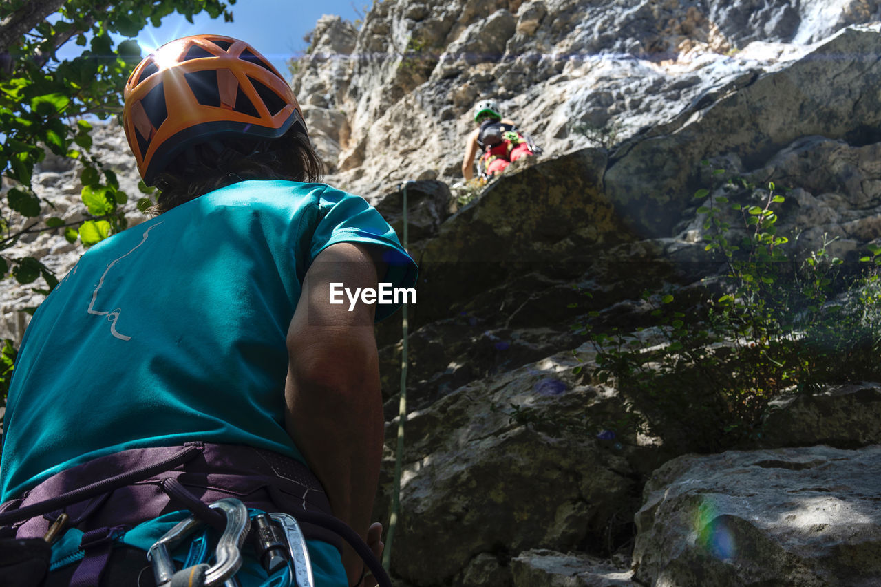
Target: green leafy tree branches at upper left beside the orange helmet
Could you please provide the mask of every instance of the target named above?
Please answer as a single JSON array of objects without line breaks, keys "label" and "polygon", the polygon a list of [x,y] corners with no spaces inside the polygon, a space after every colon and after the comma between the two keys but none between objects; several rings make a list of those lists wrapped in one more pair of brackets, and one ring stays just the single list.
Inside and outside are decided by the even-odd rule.
[{"label": "green leafy tree branches at upper left beside the orange helmet", "polygon": [[[202,11],[212,18],[232,19],[220,0],[12,0],[0,4],[0,174],[13,186],[0,206],[5,211],[0,221],[0,250],[34,232],[63,230],[69,241],[79,238],[89,246],[125,228],[121,205],[128,194],[119,188],[114,172],[93,157],[92,124],[86,117],[106,120],[122,112],[122,88],[141,59],[136,41],[115,46],[111,34],[134,37],[147,23],[159,26],[173,11],[190,22]],[[82,54],[60,60],[58,49],[70,41],[84,48]],[[51,212],[44,212],[48,203],[33,189],[33,170],[47,152],[78,160],[83,203],[91,216],[85,223],[65,225]],[[32,221],[15,228],[20,222],[14,221],[13,214]],[[9,259],[0,269],[4,274],[11,269],[21,283],[29,283],[34,263],[31,257]],[[51,275],[51,271],[41,266],[39,274]],[[48,286],[51,289],[53,284]]]}]

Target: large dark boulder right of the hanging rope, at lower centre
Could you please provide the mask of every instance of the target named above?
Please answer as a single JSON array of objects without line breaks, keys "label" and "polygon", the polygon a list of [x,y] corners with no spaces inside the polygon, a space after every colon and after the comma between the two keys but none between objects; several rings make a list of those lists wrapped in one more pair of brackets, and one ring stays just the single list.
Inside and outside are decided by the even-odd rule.
[{"label": "large dark boulder right of the hanging rope, at lower centre", "polygon": [[[411,412],[392,554],[397,575],[442,583],[478,576],[475,557],[499,545],[511,552],[583,543],[599,549],[601,536],[618,540],[629,531],[620,515],[635,498],[628,462],[635,452],[583,434],[585,406],[617,408],[603,390],[576,383],[577,364],[571,354],[557,355]],[[396,430],[390,423],[389,441]]]}]

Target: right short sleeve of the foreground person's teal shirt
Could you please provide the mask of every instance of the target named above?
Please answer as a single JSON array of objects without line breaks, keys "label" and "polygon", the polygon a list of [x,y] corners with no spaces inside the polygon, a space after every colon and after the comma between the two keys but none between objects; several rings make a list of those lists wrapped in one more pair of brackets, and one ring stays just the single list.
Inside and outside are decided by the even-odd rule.
[{"label": "right short sleeve of the foreground person's teal shirt", "polygon": [[[382,260],[388,268],[385,276],[380,276],[380,282],[392,287],[416,286],[416,262],[401,246],[395,229],[363,197],[328,187],[319,197],[318,208],[319,220],[312,236],[309,264],[322,250],[337,242],[377,245],[383,248]],[[377,305],[376,322],[391,316],[400,306],[400,303]]]}]

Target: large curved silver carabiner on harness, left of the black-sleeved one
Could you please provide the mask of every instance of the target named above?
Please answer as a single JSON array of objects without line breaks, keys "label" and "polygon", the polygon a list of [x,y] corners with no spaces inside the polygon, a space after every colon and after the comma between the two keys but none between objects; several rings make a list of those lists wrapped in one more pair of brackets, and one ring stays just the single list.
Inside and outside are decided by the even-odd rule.
[{"label": "large curved silver carabiner on harness, left of the black-sleeved one", "polygon": [[[204,585],[217,585],[218,583],[226,583],[234,585],[237,582],[233,578],[239,568],[241,568],[241,546],[248,536],[251,520],[248,517],[248,508],[240,500],[232,497],[226,497],[217,502],[211,503],[209,508],[220,509],[226,514],[226,529],[218,540],[218,546],[215,550],[215,562],[205,572]],[[156,587],[168,587],[174,577],[174,562],[169,554],[170,549],[186,538],[189,533],[203,523],[196,520],[196,516],[189,516],[185,520],[181,520],[174,527],[167,531],[166,535],[153,543],[147,552],[147,561],[150,561],[153,567],[153,576],[156,579]],[[189,569],[177,571],[183,573]]]}]

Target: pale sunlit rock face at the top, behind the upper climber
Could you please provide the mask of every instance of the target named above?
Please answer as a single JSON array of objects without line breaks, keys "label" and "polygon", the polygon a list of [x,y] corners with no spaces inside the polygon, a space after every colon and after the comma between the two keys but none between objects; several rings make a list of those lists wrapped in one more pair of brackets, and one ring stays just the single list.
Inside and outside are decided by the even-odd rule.
[{"label": "pale sunlit rock face at the top, behind the upper climber", "polygon": [[[332,145],[332,179],[374,194],[426,167],[455,181],[481,98],[501,100],[548,154],[611,144],[749,84],[878,11],[856,0],[387,0],[359,30],[322,19],[293,87],[310,107],[307,123],[322,130],[319,142]],[[871,53],[844,54],[858,55],[848,65],[855,71],[870,66]]]}]

